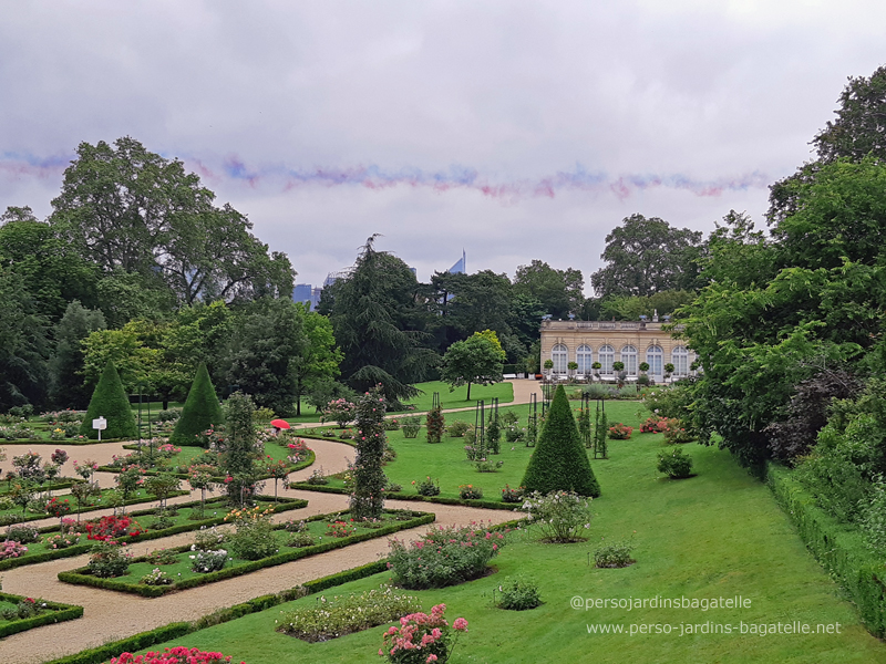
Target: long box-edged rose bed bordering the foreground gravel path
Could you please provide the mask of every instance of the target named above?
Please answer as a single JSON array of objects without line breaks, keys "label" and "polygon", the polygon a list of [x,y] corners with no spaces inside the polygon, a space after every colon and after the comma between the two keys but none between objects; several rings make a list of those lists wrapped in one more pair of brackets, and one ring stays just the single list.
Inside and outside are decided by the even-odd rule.
[{"label": "long box-edged rose bed bordering the foreground gravel path", "polygon": [[[274,527],[274,537],[277,540],[277,552],[272,556],[261,558],[259,560],[244,560],[235,558],[233,551],[228,552],[228,560],[225,567],[220,570],[203,573],[195,571],[193,568],[198,552],[192,546],[183,546],[171,549],[178,553],[177,560],[174,564],[167,566],[165,571],[168,577],[173,579],[173,583],[163,585],[148,585],[140,583],[140,581],[154,572],[157,566],[150,561],[147,557],[135,558],[130,562],[128,572],[125,575],[116,577],[113,579],[100,579],[89,572],[89,568],[79,568],[69,572],[60,572],[59,580],[66,583],[74,583],[81,585],[92,585],[95,588],[104,588],[109,590],[119,590],[123,592],[131,592],[146,598],[156,598],[167,592],[184,590],[186,588],[195,588],[223,579],[230,579],[239,577],[256,570],[267,567],[274,567],[298,560],[307,556],[322,553],[332,549],[347,547],[348,544],[361,542],[378,537],[384,537],[400,530],[414,528],[424,523],[430,523],[434,520],[434,515],[389,510],[385,511],[387,519],[390,522],[383,523],[378,527],[378,523],[372,523],[371,527],[363,526],[362,523],[351,523],[347,520],[344,512],[337,512],[333,515],[318,515],[307,519],[309,532],[317,543],[312,546],[301,547],[288,546],[292,539],[292,533],[286,530],[286,525],[280,523]],[[331,521],[330,521],[331,519]],[[346,537],[337,537],[330,535],[328,526],[336,521],[344,521],[349,523],[349,528],[353,528],[352,535]],[[220,546],[225,546],[222,543]],[[193,557],[193,558],[192,558]]]}]

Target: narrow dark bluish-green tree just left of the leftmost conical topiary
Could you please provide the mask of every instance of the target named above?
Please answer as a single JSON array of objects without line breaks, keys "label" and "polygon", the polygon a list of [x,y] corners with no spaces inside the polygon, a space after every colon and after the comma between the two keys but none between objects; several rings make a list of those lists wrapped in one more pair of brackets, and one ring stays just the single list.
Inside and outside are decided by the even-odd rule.
[{"label": "narrow dark bluish-green tree just left of the leftmost conical topiary", "polygon": [[101,311],[86,309],[78,300],[68,305],[55,325],[55,349],[49,360],[50,400],[56,406],[80,411],[89,404],[81,343],[92,332],[104,329]]}]

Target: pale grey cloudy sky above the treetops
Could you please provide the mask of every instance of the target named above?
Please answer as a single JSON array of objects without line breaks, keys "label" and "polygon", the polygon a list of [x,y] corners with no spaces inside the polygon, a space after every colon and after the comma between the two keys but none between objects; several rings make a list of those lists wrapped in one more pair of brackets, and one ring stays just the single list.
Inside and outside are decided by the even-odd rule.
[{"label": "pale grey cloudy sky above the treetops", "polygon": [[873,0],[0,0],[0,209],[52,211],[81,142],[178,158],[319,284],[359,248],[427,281],[590,276],[625,217],[765,227]]}]

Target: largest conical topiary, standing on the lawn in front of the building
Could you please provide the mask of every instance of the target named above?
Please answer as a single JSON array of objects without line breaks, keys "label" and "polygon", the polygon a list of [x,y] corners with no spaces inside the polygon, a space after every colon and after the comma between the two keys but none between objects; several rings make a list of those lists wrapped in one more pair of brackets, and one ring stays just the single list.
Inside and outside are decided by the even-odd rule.
[{"label": "largest conical topiary, standing on the lawn in front of the building", "polygon": [[523,476],[523,487],[542,494],[575,491],[591,498],[600,495],[563,385],[554,394],[547,422]]}]

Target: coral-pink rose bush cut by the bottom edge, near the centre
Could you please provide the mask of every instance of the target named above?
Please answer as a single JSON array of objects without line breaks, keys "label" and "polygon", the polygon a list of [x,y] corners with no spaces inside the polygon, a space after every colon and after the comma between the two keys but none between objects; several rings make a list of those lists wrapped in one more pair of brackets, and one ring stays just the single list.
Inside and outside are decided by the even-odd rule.
[{"label": "coral-pink rose bush cut by the bottom edge, near the centre", "polygon": [[[411,613],[400,620],[400,626],[389,627],[380,655],[396,664],[425,664],[447,662],[457,642],[452,640],[449,622],[443,618],[445,604],[437,604],[426,613]],[[456,632],[467,631],[467,621],[456,618],[452,623]]]}]

